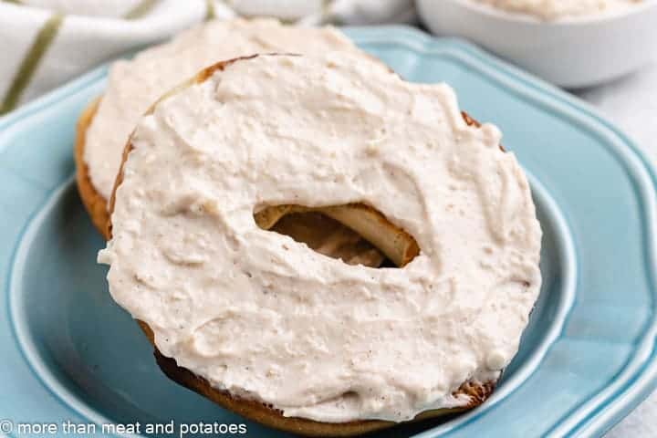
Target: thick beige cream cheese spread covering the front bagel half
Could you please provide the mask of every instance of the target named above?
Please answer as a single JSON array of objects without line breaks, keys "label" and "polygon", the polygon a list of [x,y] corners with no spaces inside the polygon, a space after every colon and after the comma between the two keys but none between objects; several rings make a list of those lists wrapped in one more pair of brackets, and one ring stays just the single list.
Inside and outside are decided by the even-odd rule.
[{"label": "thick beige cream cheese spread covering the front bagel half", "polygon": [[[468,404],[516,354],[541,231],[500,132],[454,91],[345,53],[260,56],[141,119],[99,253],[112,297],[214,388],[319,422]],[[412,235],[349,266],[259,228],[270,205],[366,203]]]}]

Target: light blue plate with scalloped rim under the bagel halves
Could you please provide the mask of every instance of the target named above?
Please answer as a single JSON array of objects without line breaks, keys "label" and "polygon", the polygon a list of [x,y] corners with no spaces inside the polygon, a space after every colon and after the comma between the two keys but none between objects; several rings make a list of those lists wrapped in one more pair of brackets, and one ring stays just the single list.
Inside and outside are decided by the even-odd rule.
[{"label": "light blue plate with scalloped rim under the bagel halves", "polygon": [[[399,26],[346,31],[402,77],[452,84],[474,118],[502,127],[545,233],[545,286],[495,395],[473,412],[374,436],[604,433],[657,381],[654,171],[588,106],[472,46]],[[78,200],[72,145],[106,72],[0,120],[0,431],[243,422],[163,377],[95,263],[103,241]]]}]

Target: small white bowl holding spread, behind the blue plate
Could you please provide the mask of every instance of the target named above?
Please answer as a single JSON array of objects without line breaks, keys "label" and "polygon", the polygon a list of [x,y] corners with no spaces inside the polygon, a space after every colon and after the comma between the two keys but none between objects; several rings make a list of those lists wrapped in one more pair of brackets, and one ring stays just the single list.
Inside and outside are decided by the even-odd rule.
[{"label": "small white bowl holding spread, behind the blue plate", "polygon": [[467,38],[561,87],[597,85],[657,57],[657,0],[551,22],[473,0],[417,0],[417,6],[436,35]]}]

